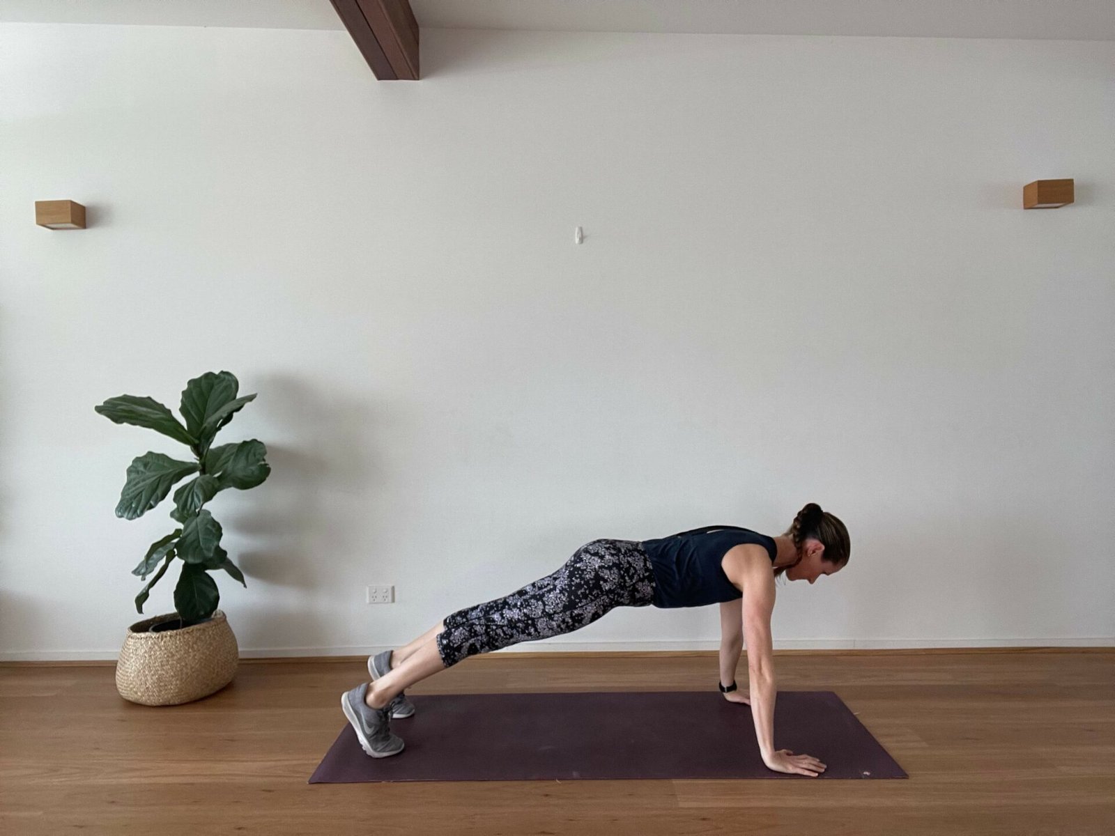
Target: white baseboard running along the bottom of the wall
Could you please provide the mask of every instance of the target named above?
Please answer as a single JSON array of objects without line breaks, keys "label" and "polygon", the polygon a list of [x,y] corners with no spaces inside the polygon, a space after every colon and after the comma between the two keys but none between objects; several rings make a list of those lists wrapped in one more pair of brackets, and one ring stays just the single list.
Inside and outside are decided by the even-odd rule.
[{"label": "white baseboard running along the bottom of the wall", "polygon": [[[591,653],[636,651],[642,653],[719,650],[716,641],[648,641],[648,642],[563,642],[544,639],[522,642],[495,653]],[[918,650],[924,648],[1115,648],[1115,636],[1082,639],[784,639],[774,642],[775,650]],[[371,655],[384,645],[353,644],[337,648],[241,648],[241,659],[282,659],[297,657]],[[0,662],[93,662],[114,660],[115,650],[3,651]]]}]

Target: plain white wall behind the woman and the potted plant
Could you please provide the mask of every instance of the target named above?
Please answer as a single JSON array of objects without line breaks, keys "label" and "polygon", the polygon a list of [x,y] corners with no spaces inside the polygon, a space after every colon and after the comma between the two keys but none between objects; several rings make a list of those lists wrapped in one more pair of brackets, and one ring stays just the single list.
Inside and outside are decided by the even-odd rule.
[{"label": "plain white wall behind the woman and the potted plant", "polygon": [[[0,26],[0,654],[114,658],[167,499],[94,406],[229,369],[245,655],[806,502],[775,647],[1111,644],[1115,42]],[[1022,185],[1074,177],[1075,205]],[[90,227],[33,224],[37,200]],[[585,241],[573,243],[582,225]],[[177,570],[147,614],[173,609]],[[363,603],[392,583],[397,603]],[[541,649],[711,649],[717,607]]]}]

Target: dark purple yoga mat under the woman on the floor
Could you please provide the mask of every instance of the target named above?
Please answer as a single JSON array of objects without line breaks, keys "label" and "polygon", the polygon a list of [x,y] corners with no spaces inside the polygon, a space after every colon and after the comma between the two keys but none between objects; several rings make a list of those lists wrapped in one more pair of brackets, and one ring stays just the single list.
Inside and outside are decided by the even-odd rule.
[{"label": "dark purple yoga mat under the woman on the floor", "polygon": [[401,752],[368,757],[345,721],[309,782],[908,777],[832,691],[775,702],[775,748],[817,758],[817,778],[767,769],[750,706],[716,691],[407,697],[414,716],[391,720]]}]

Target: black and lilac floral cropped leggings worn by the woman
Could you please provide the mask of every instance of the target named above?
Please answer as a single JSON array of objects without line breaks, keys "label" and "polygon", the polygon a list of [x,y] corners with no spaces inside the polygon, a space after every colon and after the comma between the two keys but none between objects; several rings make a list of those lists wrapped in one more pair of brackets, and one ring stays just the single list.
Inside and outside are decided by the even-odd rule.
[{"label": "black and lilac floral cropped leggings worn by the woman", "polygon": [[594,539],[556,572],[447,615],[437,651],[450,668],[477,653],[571,633],[615,606],[648,606],[653,599],[655,573],[642,544]]}]

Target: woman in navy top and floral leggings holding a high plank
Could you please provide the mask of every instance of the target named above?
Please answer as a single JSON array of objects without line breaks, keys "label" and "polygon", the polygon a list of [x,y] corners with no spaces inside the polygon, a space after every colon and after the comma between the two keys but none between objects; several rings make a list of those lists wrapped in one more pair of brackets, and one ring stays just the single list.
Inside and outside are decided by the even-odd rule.
[{"label": "woman in navy top and floral leggings holding a high plank", "polygon": [[[403,751],[391,719],[410,717],[405,688],[477,653],[571,633],[615,606],[720,604],[720,692],[752,706],[763,762],[777,772],[816,777],[825,765],[774,748],[775,678],[770,612],[775,579],[808,581],[847,565],[847,528],[809,503],[785,534],[706,526],[660,539],[594,539],[563,566],[517,592],[447,615],[404,648],[368,659],[371,682],[341,694],[341,709],[374,758]],[[736,691],[735,670],[747,641],[750,698]],[[725,681],[730,684],[725,684]]]}]

